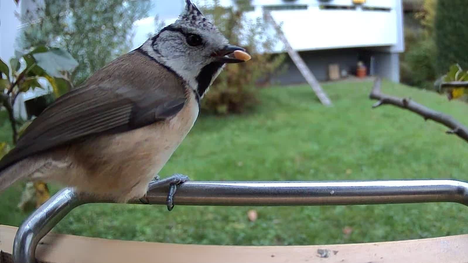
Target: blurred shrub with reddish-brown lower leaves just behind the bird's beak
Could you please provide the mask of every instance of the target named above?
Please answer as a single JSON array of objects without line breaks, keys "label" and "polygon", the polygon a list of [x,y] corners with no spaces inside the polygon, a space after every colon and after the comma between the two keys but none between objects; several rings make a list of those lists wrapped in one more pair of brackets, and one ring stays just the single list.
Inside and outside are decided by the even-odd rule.
[{"label": "blurred shrub with reddish-brown lower leaves just behind the bird's beak", "polygon": [[245,47],[252,55],[247,63],[229,64],[210,87],[202,101],[202,110],[214,114],[242,113],[257,103],[256,85],[260,79],[276,72],[285,55],[272,55],[275,39],[265,36],[266,24],[260,19],[249,21],[245,12],[249,1],[237,1],[238,8],[221,7],[218,0],[201,9],[221,33],[234,45]]}]

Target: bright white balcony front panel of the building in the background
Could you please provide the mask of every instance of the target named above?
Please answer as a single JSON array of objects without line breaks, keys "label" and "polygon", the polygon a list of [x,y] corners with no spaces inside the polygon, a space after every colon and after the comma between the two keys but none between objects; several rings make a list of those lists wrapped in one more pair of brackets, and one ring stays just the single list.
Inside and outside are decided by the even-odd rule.
[{"label": "bright white balcony front panel of the building in the background", "polygon": [[[272,11],[295,50],[392,46],[398,41],[395,10],[390,12],[351,10]],[[284,50],[278,43],[275,51]]]}]

